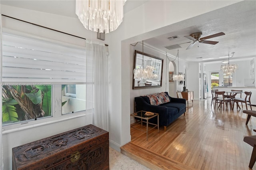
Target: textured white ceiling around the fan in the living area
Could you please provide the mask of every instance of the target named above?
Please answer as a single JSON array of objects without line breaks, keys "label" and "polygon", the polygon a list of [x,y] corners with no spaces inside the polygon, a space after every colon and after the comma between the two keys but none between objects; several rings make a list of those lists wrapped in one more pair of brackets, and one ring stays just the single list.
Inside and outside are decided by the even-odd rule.
[{"label": "textured white ceiling around the fan in the living area", "polygon": [[[238,2],[231,6],[184,20],[178,24],[180,28],[183,28],[144,40],[144,43],[148,43],[162,51],[167,51],[167,53],[174,56],[176,56],[179,49],[179,57],[186,61],[208,62],[224,60],[219,57],[227,56],[231,52],[235,52],[232,59],[245,59],[256,55],[256,1]],[[172,30],[171,28],[172,26],[170,26],[170,30]],[[219,32],[224,32],[226,35],[208,39],[209,41],[219,42],[216,45],[196,43],[191,49],[186,50],[190,45],[190,43],[186,42],[191,42],[191,40],[184,36],[189,36],[195,32],[202,32],[201,37]],[[169,40],[168,38],[172,36],[178,36],[178,38]],[[176,44],[180,44],[181,48],[172,50],[165,48]]]}]

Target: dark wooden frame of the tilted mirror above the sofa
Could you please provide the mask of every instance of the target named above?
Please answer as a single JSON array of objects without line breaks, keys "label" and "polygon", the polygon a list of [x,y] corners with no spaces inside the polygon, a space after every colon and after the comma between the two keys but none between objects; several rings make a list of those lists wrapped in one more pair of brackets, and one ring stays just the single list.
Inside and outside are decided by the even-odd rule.
[{"label": "dark wooden frame of the tilted mirror above the sofa", "polygon": [[144,88],[162,87],[162,77],[163,77],[164,59],[159,58],[159,57],[156,57],[156,56],[154,56],[154,55],[150,55],[150,54],[147,54],[147,53],[142,53],[141,51],[135,50],[135,54],[134,54],[134,67],[133,67],[133,70],[136,68],[137,54],[141,54],[141,55],[144,55],[144,56],[147,56],[147,57],[151,57],[151,58],[153,58],[153,59],[161,60],[161,61],[162,61],[161,76],[160,76],[161,78],[160,78],[160,85],[135,86],[135,79],[133,78],[133,77],[134,77],[134,74],[133,74],[133,71],[132,71],[132,79],[133,79],[132,89],[144,89]]}]

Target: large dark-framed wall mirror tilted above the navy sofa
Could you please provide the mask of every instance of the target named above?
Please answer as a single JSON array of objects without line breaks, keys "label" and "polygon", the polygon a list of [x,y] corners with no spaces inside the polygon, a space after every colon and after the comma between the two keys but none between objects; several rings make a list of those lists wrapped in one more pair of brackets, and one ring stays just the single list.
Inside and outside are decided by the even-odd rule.
[{"label": "large dark-framed wall mirror tilted above the navy sofa", "polygon": [[[135,50],[132,89],[162,86],[164,59]],[[142,69],[150,70],[150,77],[143,76]],[[134,76],[135,75],[135,76]],[[145,74],[144,74],[145,75]]]}]

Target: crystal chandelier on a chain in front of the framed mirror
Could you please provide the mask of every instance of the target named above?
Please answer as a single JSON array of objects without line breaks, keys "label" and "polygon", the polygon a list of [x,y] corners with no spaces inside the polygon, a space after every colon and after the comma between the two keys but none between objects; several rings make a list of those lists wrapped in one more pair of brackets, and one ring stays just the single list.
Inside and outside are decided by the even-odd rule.
[{"label": "crystal chandelier on a chain in front of the framed mirror", "polygon": [[138,80],[156,79],[158,75],[154,74],[154,69],[152,65],[146,65],[144,68],[144,41],[142,41],[142,67],[133,70],[133,78]]}]

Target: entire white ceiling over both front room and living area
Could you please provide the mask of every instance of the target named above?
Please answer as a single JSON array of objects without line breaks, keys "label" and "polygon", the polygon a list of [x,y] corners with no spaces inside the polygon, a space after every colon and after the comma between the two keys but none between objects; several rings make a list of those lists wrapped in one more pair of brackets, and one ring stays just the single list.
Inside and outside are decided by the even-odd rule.
[{"label": "entire white ceiling over both front room and living area", "polygon": [[[77,17],[75,0],[1,0],[0,2],[8,6]],[[147,0],[128,0],[124,6],[124,13],[145,2]],[[174,56],[178,49],[168,50],[165,47],[183,43],[179,48],[179,58],[186,61],[225,60],[219,57],[231,54],[231,52],[235,52],[232,59],[245,59],[256,55],[256,1],[254,0],[238,2],[176,24],[182,26],[182,29],[176,31],[170,29],[170,33],[144,40],[144,43],[167,51]],[[201,37],[218,32],[224,32],[226,35],[208,39],[209,41],[218,41],[219,43],[216,45],[196,43],[191,49],[186,50],[190,44],[186,42],[191,40],[184,36],[189,36],[194,32],[202,32]],[[167,39],[172,36],[178,36],[178,38],[172,41]],[[198,57],[202,58],[197,59]],[[213,59],[202,60],[207,58]]]}]

